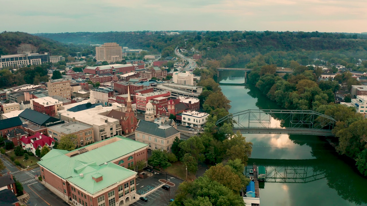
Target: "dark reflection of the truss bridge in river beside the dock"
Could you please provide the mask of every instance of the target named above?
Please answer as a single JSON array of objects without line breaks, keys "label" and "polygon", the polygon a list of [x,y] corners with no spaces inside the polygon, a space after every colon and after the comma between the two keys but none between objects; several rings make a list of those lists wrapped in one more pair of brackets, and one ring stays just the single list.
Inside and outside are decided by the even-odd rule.
[{"label": "dark reflection of the truss bridge in river beside the dock", "polygon": [[314,169],[322,164],[317,159],[249,159],[245,174],[252,164],[265,166],[267,183],[309,183],[324,179],[325,172]]}]

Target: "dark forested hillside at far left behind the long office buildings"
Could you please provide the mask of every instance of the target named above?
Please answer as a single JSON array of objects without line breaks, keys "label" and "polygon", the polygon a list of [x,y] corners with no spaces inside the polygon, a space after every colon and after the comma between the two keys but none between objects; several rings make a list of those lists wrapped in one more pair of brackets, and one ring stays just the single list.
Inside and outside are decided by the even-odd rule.
[{"label": "dark forested hillside at far left behind the long office buildings", "polygon": [[[20,44],[31,44],[37,48],[37,52],[50,52],[51,55],[66,55],[81,52],[87,49],[86,45],[66,45],[48,38],[33,36],[24,32],[2,32],[0,33],[0,55],[17,54]],[[92,54],[93,52],[87,52]]]}]

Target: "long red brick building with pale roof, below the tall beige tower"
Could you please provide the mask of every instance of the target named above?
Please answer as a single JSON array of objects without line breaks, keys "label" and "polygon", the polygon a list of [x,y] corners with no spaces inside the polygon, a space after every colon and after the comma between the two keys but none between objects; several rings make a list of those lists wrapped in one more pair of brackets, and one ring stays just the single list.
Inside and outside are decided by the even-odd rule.
[{"label": "long red brick building with pale roof, below the tall beige tower", "polygon": [[[143,67],[144,68],[144,67]],[[103,66],[86,66],[84,68],[84,74],[107,74],[111,73],[113,75],[116,74],[127,74],[129,72],[135,71],[139,69],[139,66],[136,64],[128,64],[128,65],[103,65]]]}]

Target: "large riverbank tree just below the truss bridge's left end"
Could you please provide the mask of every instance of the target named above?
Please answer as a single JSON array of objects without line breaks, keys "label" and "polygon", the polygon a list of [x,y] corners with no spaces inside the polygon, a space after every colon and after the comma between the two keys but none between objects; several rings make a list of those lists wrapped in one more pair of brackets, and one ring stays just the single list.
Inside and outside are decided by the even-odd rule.
[{"label": "large riverbank tree just below the truss bridge's left end", "polygon": [[226,157],[228,159],[241,159],[244,165],[247,165],[248,158],[251,157],[252,143],[246,142],[246,137],[237,131],[232,138],[224,140]]}]

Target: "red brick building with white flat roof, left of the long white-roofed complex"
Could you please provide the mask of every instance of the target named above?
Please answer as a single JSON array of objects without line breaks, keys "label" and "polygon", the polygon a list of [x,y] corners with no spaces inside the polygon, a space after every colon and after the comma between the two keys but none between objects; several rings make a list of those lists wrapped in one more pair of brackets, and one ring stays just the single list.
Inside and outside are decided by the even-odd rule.
[{"label": "red brick building with white flat roof, left of the long white-roofed complex", "polygon": [[31,99],[30,100],[31,108],[34,111],[38,111],[39,113],[47,114],[51,117],[55,117],[57,111],[60,110],[60,106],[63,105],[63,102],[60,102],[58,99],[54,99],[50,96]]}]

